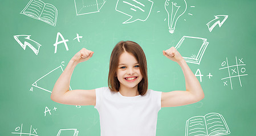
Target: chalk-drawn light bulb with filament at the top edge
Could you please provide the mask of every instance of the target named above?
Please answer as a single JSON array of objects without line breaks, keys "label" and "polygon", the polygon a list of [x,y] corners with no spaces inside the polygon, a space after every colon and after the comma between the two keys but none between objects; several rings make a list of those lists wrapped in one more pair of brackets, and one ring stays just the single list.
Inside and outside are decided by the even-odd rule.
[{"label": "chalk-drawn light bulb with filament at the top edge", "polygon": [[[169,32],[174,33],[174,29],[177,23],[178,18],[184,14],[186,11],[186,1],[185,0],[176,0],[176,1],[165,1],[165,10],[168,14],[168,26]],[[192,15],[192,14],[191,14]]]}]

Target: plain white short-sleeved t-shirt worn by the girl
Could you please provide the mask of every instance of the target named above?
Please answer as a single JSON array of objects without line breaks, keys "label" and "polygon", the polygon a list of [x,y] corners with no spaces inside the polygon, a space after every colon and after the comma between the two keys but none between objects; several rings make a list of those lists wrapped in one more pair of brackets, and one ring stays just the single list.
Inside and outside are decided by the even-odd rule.
[{"label": "plain white short-sleeved t-shirt worn by the girl", "polygon": [[96,88],[101,136],[155,136],[161,94],[148,90],[144,96],[127,97],[108,87]]}]

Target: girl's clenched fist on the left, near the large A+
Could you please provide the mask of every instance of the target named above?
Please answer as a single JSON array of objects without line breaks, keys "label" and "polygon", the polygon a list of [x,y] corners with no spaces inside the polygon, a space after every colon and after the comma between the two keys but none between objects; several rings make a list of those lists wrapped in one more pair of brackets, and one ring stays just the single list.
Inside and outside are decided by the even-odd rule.
[{"label": "girl's clenched fist on the left, near the large A+", "polygon": [[92,52],[91,50],[87,50],[86,48],[83,48],[78,53],[76,53],[72,59],[75,62],[80,63],[87,61],[89,58],[92,57],[92,54],[94,54],[94,52]]}]

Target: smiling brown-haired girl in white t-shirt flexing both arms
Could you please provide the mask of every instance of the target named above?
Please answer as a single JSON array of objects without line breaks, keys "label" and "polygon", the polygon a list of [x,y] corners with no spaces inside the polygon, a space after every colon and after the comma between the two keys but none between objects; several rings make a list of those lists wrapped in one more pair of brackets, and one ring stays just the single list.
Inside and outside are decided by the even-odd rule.
[{"label": "smiling brown-haired girl in white t-shirt flexing both arms", "polygon": [[160,92],[148,89],[147,61],[143,49],[133,41],[120,41],[109,62],[108,87],[69,90],[75,66],[94,52],[83,48],[68,63],[56,81],[51,99],[69,105],[94,105],[100,115],[101,136],[155,136],[161,107],[196,103],[204,92],[184,58],[172,47],[164,56],[180,65],[186,91]]}]

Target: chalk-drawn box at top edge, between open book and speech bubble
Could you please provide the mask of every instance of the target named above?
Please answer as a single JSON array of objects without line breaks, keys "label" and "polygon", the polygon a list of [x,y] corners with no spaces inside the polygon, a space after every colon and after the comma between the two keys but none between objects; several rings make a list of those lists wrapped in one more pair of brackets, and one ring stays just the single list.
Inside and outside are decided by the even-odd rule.
[{"label": "chalk-drawn box at top edge, between open book and speech bubble", "polygon": [[76,15],[100,12],[106,0],[75,0]]}]

